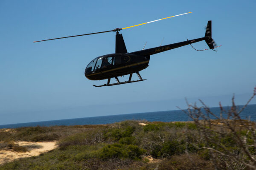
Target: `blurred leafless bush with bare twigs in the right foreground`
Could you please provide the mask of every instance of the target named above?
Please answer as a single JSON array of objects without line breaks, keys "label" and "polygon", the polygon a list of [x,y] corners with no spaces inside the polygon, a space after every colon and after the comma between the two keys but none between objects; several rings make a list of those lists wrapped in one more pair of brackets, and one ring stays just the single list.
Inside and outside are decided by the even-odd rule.
[{"label": "blurred leafless bush with bare twigs in the right foreground", "polygon": [[183,110],[198,127],[201,146],[197,146],[197,149],[201,150],[201,156],[212,162],[215,169],[256,169],[256,125],[250,119],[243,120],[240,117],[240,113],[254,96],[256,87],[241,109],[236,106],[234,96],[229,110],[225,110],[220,102],[219,115],[212,113],[201,100],[202,107],[198,107],[196,103],[188,104],[188,109]]}]

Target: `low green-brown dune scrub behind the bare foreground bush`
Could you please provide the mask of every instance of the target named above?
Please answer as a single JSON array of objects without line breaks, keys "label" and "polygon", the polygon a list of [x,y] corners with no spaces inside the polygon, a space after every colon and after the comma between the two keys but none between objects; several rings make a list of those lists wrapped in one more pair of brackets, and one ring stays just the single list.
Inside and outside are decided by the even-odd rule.
[{"label": "low green-brown dune scrub behind the bare foreground bush", "polygon": [[[124,121],[110,125],[76,125],[52,127],[22,127],[1,133],[4,140],[52,141],[59,147],[40,156],[23,158],[0,166],[0,170],[212,170],[209,145],[201,142],[197,126],[192,122]],[[238,144],[230,136],[215,134],[229,150]],[[241,131],[240,135],[250,134]],[[212,143],[211,145],[214,145]],[[12,144],[12,147],[15,145]],[[35,146],[36,147],[36,146]],[[17,151],[25,150],[17,147]],[[26,148],[29,150],[29,148]],[[255,148],[251,148],[255,152]],[[145,156],[160,162],[148,163]]]}]

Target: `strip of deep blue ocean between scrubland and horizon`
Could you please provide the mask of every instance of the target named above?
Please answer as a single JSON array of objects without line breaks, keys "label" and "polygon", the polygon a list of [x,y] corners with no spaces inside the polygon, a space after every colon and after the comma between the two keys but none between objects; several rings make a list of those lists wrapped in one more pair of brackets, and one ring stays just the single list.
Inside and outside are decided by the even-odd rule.
[{"label": "strip of deep blue ocean between scrubland and horizon", "polygon": [[[242,108],[243,106],[239,106]],[[230,107],[223,107],[228,110]],[[219,116],[220,109],[218,107],[210,108],[212,113]],[[224,116],[224,115],[223,115]],[[242,119],[248,119],[256,121],[256,105],[248,105],[243,112],[240,113]],[[211,119],[215,119],[211,117]],[[29,122],[29,123],[18,123],[9,125],[0,125],[2,128],[17,128],[17,127],[29,127],[29,126],[54,126],[54,125],[99,125],[109,124],[114,122],[121,122],[124,120],[147,120],[149,122],[161,121],[161,122],[172,122],[172,121],[190,121],[189,116],[181,110],[176,111],[157,111],[148,113],[132,113],[132,114],[120,114],[110,116],[97,116],[97,117],[85,117],[77,119],[62,119],[62,120],[51,120],[43,122]]]}]

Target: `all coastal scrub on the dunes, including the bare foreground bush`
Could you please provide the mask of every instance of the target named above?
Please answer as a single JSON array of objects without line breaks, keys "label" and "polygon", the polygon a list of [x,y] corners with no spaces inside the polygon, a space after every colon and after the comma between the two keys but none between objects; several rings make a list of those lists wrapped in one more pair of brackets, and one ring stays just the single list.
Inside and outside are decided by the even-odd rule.
[{"label": "all coastal scrub on the dunes, including the bare foreground bush", "polygon": [[7,162],[0,170],[253,170],[256,125],[239,116],[247,104],[239,109],[232,102],[229,110],[220,103],[218,114],[202,101],[201,107],[188,104],[184,112],[191,122],[127,120],[0,131],[0,150],[26,152],[14,144],[21,140],[58,141],[54,150]]}]

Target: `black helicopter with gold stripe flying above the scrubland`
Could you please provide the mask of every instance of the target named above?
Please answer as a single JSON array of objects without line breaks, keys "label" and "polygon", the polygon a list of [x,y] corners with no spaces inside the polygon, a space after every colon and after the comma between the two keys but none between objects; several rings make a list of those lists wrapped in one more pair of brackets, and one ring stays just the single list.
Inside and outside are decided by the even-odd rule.
[{"label": "black helicopter with gold stripe flying above the scrubland", "polygon": [[[189,14],[192,12],[184,13],[184,14]],[[179,14],[175,15],[172,17],[177,17],[180,15],[184,14]],[[172,17],[166,17],[162,18],[159,20],[164,20],[167,18],[172,18]],[[150,21],[147,23],[153,23],[159,20],[154,20]],[[127,28],[132,28],[135,26],[140,26],[143,24],[147,23],[142,23],[134,26],[129,26],[125,28],[116,28],[110,31],[102,31],[102,32],[95,32],[95,33],[90,33],[90,34],[100,34],[100,33],[106,33],[106,32],[116,32],[116,51],[114,54],[107,54],[103,56],[96,57],[93,59],[85,68],[84,75],[87,79],[90,80],[103,80],[103,79],[108,79],[108,82],[103,85],[93,85],[94,87],[103,87],[103,86],[113,86],[113,85],[121,85],[121,84],[126,84],[126,83],[132,83],[132,82],[140,82],[144,81],[146,79],[143,79],[140,76],[139,71],[142,71],[143,69],[148,67],[148,63],[150,60],[150,56],[153,54],[157,54],[163,51],[168,51],[174,48],[178,48],[184,45],[191,45],[192,43],[199,42],[205,40],[207,45],[209,46],[209,49],[214,49],[220,46],[217,46],[212,39],[212,21],[209,20],[207,23],[206,27],[206,32],[205,36],[193,40],[186,40],[183,42],[177,42],[174,44],[169,44],[169,45],[163,45],[159,47],[154,47],[154,48],[149,48],[149,49],[144,49],[140,51],[134,51],[131,53],[127,52],[126,46],[124,39],[122,37],[122,34],[119,34],[119,31]],[[84,35],[90,35],[90,34],[81,34],[81,35],[74,35],[74,36],[69,36],[69,37],[60,37],[60,38],[53,38],[53,39],[48,39],[48,40],[57,40],[57,39],[62,39],[62,38],[70,38],[70,37],[78,37],[78,36],[84,36]],[[35,42],[41,42],[41,41],[48,41],[48,40],[40,40],[40,41],[35,41]],[[192,45],[191,45],[192,46]],[[194,48],[192,46],[192,48]],[[195,49],[195,48],[194,48]],[[209,50],[205,49],[205,50]],[[197,49],[195,49],[197,50]],[[197,50],[197,51],[204,51],[204,50]],[[215,51],[215,50],[214,50]],[[138,80],[131,80],[132,75],[136,73],[137,76],[139,77]],[[124,76],[124,75],[129,75],[128,81],[125,82],[120,82],[118,77]],[[116,83],[111,83],[111,78],[116,79]]]}]

